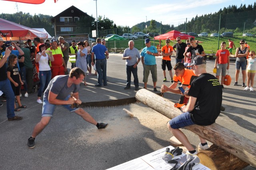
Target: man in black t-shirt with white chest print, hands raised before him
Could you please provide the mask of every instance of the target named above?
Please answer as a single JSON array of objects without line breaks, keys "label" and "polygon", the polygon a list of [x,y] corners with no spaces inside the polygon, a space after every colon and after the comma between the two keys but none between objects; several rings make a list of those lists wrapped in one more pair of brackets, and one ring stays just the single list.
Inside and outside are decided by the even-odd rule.
[{"label": "man in black t-shirt with white chest print, hands raised before him", "polygon": [[189,52],[191,53],[191,59],[196,57],[196,55],[205,56],[202,45],[197,44],[194,38],[189,38],[189,42],[191,46],[184,52],[185,57],[188,57],[187,53]]}]

